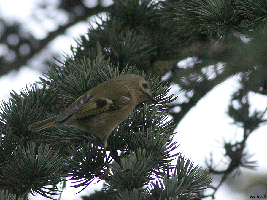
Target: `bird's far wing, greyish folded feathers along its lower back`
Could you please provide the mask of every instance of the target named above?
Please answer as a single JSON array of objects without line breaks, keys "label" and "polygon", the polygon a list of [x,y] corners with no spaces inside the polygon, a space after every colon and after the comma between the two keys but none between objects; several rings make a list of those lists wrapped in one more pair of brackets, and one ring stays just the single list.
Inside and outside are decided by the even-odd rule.
[{"label": "bird's far wing, greyish folded feathers along its lower back", "polygon": [[76,99],[68,108],[66,108],[60,115],[58,115],[55,120],[60,122],[67,119],[73,113],[77,112],[85,103],[92,101],[92,96],[89,93],[85,93]]}]

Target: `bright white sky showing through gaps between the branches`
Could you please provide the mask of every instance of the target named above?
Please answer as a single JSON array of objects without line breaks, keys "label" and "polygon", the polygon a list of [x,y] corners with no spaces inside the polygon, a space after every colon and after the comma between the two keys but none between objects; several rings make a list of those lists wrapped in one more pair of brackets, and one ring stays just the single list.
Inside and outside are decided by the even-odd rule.
[{"label": "bright white sky showing through gaps between the branches", "polygon": [[[33,9],[34,0],[0,0],[0,15],[9,16],[12,18],[19,18],[28,20],[30,18],[31,10]],[[23,12],[21,12],[23,10]],[[50,45],[58,52],[66,52],[70,44],[75,44],[73,38],[77,38],[79,34],[86,33],[87,23],[79,23],[78,25],[69,28],[68,36],[59,36]],[[38,29],[36,31],[38,34]],[[42,34],[41,34],[42,35]],[[0,78],[0,100],[7,100],[9,92],[14,89],[16,92],[25,86],[25,83],[33,83],[39,81],[41,73],[38,70],[22,67],[18,73],[11,72],[8,75]],[[233,138],[241,138],[242,129],[235,125],[230,125],[233,121],[227,114],[227,106],[229,104],[230,95],[237,88],[237,78],[233,77],[224,83],[218,85],[211,92],[209,92],[197,105],[192,108],[187,115],[182,119],[179,126],[175,130],[177,134],[175,139],[178,144],[181,144],[177,151],[182,152],[186,158],[191,158],[195,165],[204,165],[204,155],[209,156],[209,152],[213,151],[215,158],[221,158],[224,152],[221,152],[223,139],[230,141]],[[255,108],[262,109],[266,107],[267,97],[262,95],[251,95],[252,110]],[[266,125],[260,127],[255,133],[249,136],[247,140],[247,147],[250,153],[255,152],[252,160],[258,160],[259,167],[255,173],[267,171],[267,160],[263,159],[266,156]],[[218,142],[216,142],[218,141]],[[216,159],[215,159],[216,160]],[[68,183],[67,185],[72,185]],[[92,193],[95,188],[101,188],[102,183],[91,184],[81,193],[74,195],[79,190],[68,188],[63,192],[61,199],[79,199],[80,195],[88,195]],[[216,200],[230,200],[230,199],[248,199],[240,194],[226,191],[227,186],[223,186],[216,194]],[[73,197],[71,197],[73,196]],[[41,199],[40,196],[30,199]]]}]

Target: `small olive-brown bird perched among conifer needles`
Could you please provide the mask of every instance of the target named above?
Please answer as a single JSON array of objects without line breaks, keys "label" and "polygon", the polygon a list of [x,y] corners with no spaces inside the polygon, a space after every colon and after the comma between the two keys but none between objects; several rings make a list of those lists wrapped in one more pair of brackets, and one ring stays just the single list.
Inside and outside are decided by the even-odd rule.
[{"label": "small olive-brown bird perched among conifer needles", "polygon": [[85,92],[60,115],[30,124],[28,129],[37,132],[55,124],[75,127],[99,137],[106,149],[113,129],[147,100],[158,102],[145,79],[135,74],[116,76]]}]

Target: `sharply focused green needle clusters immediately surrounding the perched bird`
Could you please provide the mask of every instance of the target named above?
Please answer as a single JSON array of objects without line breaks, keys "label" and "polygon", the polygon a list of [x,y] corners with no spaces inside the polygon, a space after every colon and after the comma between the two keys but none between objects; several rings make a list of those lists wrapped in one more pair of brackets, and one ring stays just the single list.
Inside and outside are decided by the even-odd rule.
[{"label": "sharply focused green needle clusters immediately surrounding the perched bird", "polygon": [[[0,146],[1,184],[16,194],[30,192],[48,197],[60,192],[57,184],[65,177],[76,183],[73,187],[81,188],[100,178],[106,180],[107,191],[119,190],[122,195],[126,189],[146,188],[151,180],[160,180],[168,174],[173,168],[171,161],[179,153],[172,153],[177,145],[171,137],[174,124],[168,119],[168,109],[175,98],[167,95],[167,84],[129,65],[120,71],[105,57],[68,58],[61,64],[50,67],[46,80],[42,79],[42,89],[36,84],[30,89],[26,87],[21,94],[13,92],[9,103],[2,104],[1,127],[2,133],[6,133]],[[60,125],[38,134],[27,130],[28,124],[60,113],[99,83],[127,73],[147,78],[153,96],[160,103],[138,105],[112,132],[106,161],[99,147],[101,141],[87,133]],[[13,144],[7,144],[10,139]],[[119,155],[117,150],[123,152]]]}]

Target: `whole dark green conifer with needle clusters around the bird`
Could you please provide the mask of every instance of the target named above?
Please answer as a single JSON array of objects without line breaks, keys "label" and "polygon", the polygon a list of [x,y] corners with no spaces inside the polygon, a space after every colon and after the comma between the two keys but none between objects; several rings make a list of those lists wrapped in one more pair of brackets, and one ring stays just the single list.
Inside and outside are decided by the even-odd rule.
[{"label": "whole dark green conifer with needle clusters around the bird", "polygon": [[[120,200],[201,199],[211,186],[209,172],[222,174],[222,183],[240,167],[255,167],[245,144],[266,122],[266,110],[251,114],[248,94],[266,95],[266,13],[263,0],[114,0],[110,15],[77,39],[73,55],[52,65],[41,85],[26,85],[2,102],[1,199],[26,199],[28,193],[51,198],[66,179],[77,181],[74,187],[82,190],[95,178],[104,179],[104,191]],[[250,41],[244,42],[243,36]],[[177,61],[188,56],[197,58],[176,68]],[[161,81],[167,72],[171,76]],[[138,105],[112,132],[108,160],[98,138],[74,128],[55,126],[38,133],[27,129],[58,115],[101,82],[128,73],[146,78],[160,103]],[[244,128],[244,138],[225,142],[226,170],[217,171],[212,158],[207,159],[208,170],[194,167],[174,153],[175,124],[214,86],[237,73],[242,87],[232,101],[239,108],[231,103],[228,113]],[[177,103],[169,95],[171,83],[185,91],[187,102]],[[178,113],[175,106],[181,108]],[[214,198],[217,188],[206,196]]]}]

